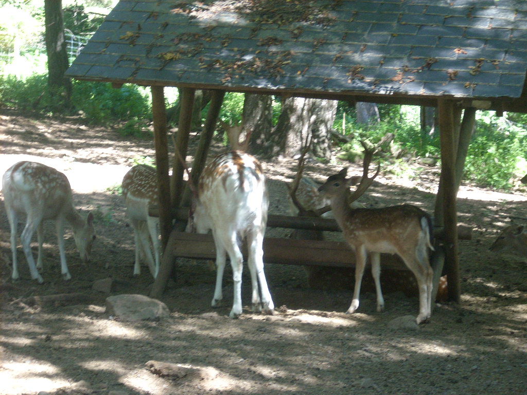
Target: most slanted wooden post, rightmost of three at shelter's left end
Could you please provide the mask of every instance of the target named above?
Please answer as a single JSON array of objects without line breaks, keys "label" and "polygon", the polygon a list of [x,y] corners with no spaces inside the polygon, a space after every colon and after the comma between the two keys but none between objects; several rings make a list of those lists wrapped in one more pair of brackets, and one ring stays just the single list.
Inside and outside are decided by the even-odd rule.
[{"label": "most slanted wooden post, rightmost of three at shelter's left end", "polygon": [[[216,130],[216,123],[218,122],[218,116],[220,114],[221,104],[223,103],[223,97],[225,97],[225,91],[213,91],[210,100],[209,111],[207,113],[207,120],[205,121],[205,127],[200,135],[198,148],[194,155],[194,161],[192,162],[192,181],[197,187],[198,180],[207,162],[207,154],[209,152],[210,142]],[[181,206],[186,207],[190,205],[191,190],[189,187],[185,189],[183,193],[183,199],[181,200]]]}]

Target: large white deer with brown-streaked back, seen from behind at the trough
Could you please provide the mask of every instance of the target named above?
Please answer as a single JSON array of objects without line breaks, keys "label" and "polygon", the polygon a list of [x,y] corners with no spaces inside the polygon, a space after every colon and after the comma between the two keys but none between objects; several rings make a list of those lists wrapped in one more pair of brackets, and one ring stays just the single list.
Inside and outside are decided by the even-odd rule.
[{"label": "large white deer with brown-streaked back, seen from behind at the trough", "polygon": [[212,307],[218,307],[223,299],[221,283],[226,254],[229,254],[234,282],[229,317],[237,318],[241,314],[243,256],[240,244],[245,238],[252,284],[252,311],[272,314],[274,304],[265,278],[262,249],[269,197],[260,163],[255,157],[239,151],[218,155],[203,170],[193,204],[189,229],[198,233],[207,233],[211,229],[216,245],[217,274]]}]

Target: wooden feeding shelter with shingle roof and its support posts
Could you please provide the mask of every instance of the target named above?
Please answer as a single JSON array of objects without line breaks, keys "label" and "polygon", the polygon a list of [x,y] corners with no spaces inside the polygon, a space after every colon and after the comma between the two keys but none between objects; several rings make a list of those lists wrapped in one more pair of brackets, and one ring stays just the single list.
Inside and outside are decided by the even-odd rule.
[{"label": "wooden feeding shelter with shingle roof and its support posts", "polygon": [[[175,161],[171,192],[164,86],[182,88],[183,158],[194,92],[213,92],[194,180],[225,92],[438,107],[435,219],[444,225],[449,296],[459,301],[456,161],[464,161],[476,109],[527,112],[526,72],[523,0],[121,0],[66,75],[151,86],[164,245],[178,238],[183,176]],[[170,256],[165,250],[153,295],[164,289]]]}]

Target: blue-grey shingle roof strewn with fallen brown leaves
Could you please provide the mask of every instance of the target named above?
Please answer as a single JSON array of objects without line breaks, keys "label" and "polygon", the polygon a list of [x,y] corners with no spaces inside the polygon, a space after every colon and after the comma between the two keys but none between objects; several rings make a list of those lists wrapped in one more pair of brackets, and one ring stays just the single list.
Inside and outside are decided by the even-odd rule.
[{"label": "blue-grey shingle roof strewn with fallen brown leaves", "polygon": [[121,0],[66,75],[165,86],[519,97],[525,0]]}]

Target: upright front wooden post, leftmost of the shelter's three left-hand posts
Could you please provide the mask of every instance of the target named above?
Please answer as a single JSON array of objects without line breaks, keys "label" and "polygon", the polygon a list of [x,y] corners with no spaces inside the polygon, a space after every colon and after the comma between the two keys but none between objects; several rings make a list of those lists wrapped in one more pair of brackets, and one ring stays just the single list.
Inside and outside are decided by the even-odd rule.
[{"label": "upright front wooden post, leftmost of the shelter's three left-hand posts", "polygon": [[159,227],[161,244],[165,248],[172,230],[170,179],[167,139],[167,108],[162,86],[152,86],[152,115],[154,123],[155,168],[159,192]]}]

